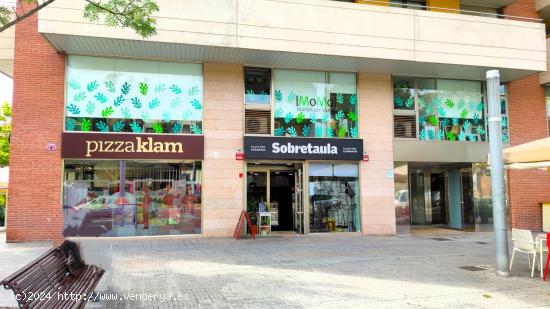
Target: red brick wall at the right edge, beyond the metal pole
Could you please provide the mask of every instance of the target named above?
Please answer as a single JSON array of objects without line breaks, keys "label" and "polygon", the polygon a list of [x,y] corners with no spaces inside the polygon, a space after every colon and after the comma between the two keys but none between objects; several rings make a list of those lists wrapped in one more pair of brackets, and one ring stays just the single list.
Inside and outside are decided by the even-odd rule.
[{"label": "red brick wall at the right edge, beyond the metal pole", "polygon": [[[539,18],[534,0],[516,0],[504,14]],[[538,74],[508,85],[510,142],[523,144],[548,137],[546,99]],[[550,174],[545,171],[509,171],[508,197],[512,227],[542,229],[539,203],[550,201]]]}]

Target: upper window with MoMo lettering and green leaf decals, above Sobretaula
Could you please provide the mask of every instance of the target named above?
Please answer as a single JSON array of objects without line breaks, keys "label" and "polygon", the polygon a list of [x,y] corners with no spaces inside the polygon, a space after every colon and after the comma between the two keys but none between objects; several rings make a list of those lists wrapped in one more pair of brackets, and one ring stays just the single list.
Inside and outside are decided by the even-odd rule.
[{"label": "upper window with MoMo lettering and green leaf decals, above Sobretaula", "polygon": [[276,136],[359,136],[354,73],[274,71]]}]

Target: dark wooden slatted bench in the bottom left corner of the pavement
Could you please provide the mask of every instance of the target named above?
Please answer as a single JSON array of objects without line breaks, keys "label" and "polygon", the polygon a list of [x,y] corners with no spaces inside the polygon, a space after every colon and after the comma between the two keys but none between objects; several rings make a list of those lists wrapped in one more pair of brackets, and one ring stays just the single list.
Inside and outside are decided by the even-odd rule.
[{"label": "dark wooden slatted bench in the bottom left corner of the pavement", "polygon": [[86,265],[78,245],[65,241],[0,284],[13,291],[20,308],[84,308],[104,272]]}]

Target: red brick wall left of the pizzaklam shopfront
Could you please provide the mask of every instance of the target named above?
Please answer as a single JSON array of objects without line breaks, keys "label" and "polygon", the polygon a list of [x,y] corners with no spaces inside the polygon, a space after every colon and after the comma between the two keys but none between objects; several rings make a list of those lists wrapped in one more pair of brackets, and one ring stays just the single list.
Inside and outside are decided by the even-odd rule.
[{"label": "red brick wall left of the pizzaklam shopfront", "polygon": [[[38,34],[37,24],[34,15],[15,29],[8,242],[62,239],[65,56]],[[47,151],[48,143],[58,150]]]}]

